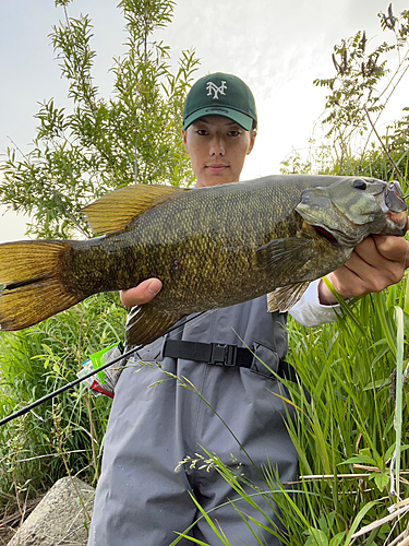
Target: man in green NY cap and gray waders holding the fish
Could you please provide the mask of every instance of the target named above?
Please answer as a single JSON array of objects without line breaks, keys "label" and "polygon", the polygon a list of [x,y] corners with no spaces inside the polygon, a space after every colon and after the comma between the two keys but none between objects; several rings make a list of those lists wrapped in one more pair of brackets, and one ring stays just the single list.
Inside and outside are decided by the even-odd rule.
[{"label": "man in green NY cap and gray waders holding the fish", "polygon": [[[254,146],[256,121],[253,95],[238,78],[216,73],[193,85],[184,107],[183,140],[196,188],[239,180],[245,156]],[[369,238],[345,266],[328,276],[345,297],[381,290],[400,281],[406,265],[401,257],[407,251],[404,239]],[[147,280],[123,292],[122,302],[127,307],[147,302],[160,287],[159,280]],[[335,320],[332,304],[330,292],[317,281],[294,316],[309,324]],[[285,325],[286,313],[267,313],[263,296],[207,312],[139,353],[117,384],[89,546],[168,546],[200,517],[191,496],[231,544],[257,544],[240,513],[227,502],[237,496],[216,470],[175,468],[187,455],[203,454],[203,447],[228,465],[233,456],[239,472],[262,489],[260,468],[268,461],[282,482],[297,477],[297,452],[285,424],[291,408],[274,395],[282,393],[282,388],[256,358],[280,373],[280,359],[287,352]],[[226,345],[237,351],[232,363],[225,359]],[[214,356],[216,349],[221,356]],[[152,367],[137,364],[139,359]],[[187,378],[214,411],[195,392],[178,387],[169,375]],[[153,383],[157,384],[151,387]],[[262,499],[258,502],[275,519]],[[244,501],[237,501],[237,508],[261,519]],[[261,521],[267,524],[267,520]],[[190,536],[219,544],[204,519]],[[279,544],[272,534],[263,536],[265,544]],[[192,543],[183,539],[179,544]]]}]

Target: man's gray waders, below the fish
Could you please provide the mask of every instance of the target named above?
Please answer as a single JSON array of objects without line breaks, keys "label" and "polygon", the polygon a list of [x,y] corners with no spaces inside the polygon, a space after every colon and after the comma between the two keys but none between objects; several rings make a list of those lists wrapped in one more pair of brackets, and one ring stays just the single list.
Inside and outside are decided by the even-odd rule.
[{"label": "man's gray waders, below the fish", "polygon": [[[268,313],[266,297],[261,297],[208,312],[172,332],[170,339],[248,345],[277,370],[287,352],[286,314]],[[177,533],[201,515],[191,495],[210,511],[232,546],[256,545],[238,510],[263,523],[265,519],[243,500],[237,500],[238,510],[225,505],[238,496],[215,468],[200,470],[201,464],[175,468],[187,455],[205,455],[203,447],[232,468],[239,465],[238,472],[262,490],[266,489],[260,474],[263,465],[277,468],[282,483],[294,480],[298,456],[286,429],[287,412],[291,415],[292,407],[286,407],[274,394],[286,395],[286,391],[256,358],[248,369],[164,357],[165,342],[166,336],[142,349],[117,383],[88,546],[169,546]],[[152,367],[141,366],[139,359],[152,363]],[[164,371],[189,379],[219,416]],[[255,500],[278,521],[262,497]],[[221,544],[203,518],[190,533],[212,546]],[[265,544],[280,544],[272,534],[262,533]],[[179,542],[180,546],[190,544],[188,539]]]}]

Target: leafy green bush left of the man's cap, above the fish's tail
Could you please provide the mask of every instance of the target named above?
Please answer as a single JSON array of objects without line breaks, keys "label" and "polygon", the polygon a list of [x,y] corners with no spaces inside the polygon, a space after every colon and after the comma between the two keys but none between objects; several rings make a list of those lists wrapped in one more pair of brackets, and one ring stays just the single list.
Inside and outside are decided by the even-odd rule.
[{"label": "leafy green bush left of the man's cap, above the fish's tail", "polygon": [[122,0],[128,51],[115,58],[112,96],[103,98],[92,69],[88,15],[69,17],[50,34],[69,83],[71,111],[51,98],[36,114],[37,135],[23,161],[9,150],[0,199],[33,218],[29,233],[67,238],[80,223],[76,211],[109,190],[132,183],[190,183],[193,175],[181,139],[182,107],[199,61],[182,51],[179,69],[170,50],[154,39],[171,22],[172,0]]}]

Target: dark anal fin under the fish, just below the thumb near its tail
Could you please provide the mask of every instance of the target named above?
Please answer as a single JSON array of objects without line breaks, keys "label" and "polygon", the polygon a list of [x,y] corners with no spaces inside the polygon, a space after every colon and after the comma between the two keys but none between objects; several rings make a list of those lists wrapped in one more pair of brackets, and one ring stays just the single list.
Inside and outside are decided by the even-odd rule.
[{"label": "dark anal fin under the fish, just below the thumb near its tail", "polygon": [[132,308],[127,322],[127,345],[147,345],[164,335],[183,318],[161,311],[151,304]]}]

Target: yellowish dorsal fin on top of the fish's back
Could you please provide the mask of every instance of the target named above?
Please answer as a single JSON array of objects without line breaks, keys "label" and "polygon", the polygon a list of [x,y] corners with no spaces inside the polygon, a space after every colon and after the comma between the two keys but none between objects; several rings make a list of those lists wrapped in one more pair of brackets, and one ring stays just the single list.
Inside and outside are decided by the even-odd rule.
[{"label": "yellowish dorsal fin on top of the fish's back", "polygon": [[95,234],[121,232],[148,209],[172,194],[187,191],[175,186],[135,183],[107,193],[81,210]]}]

